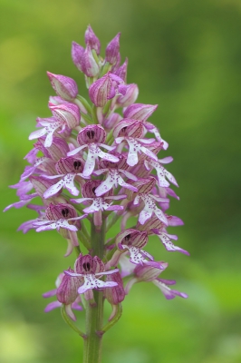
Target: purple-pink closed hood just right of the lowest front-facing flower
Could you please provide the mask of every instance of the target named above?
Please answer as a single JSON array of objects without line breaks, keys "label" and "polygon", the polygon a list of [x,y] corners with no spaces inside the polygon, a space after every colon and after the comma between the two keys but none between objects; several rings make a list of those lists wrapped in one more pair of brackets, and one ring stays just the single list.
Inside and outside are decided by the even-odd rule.
[{"label": "purple-pink closed hood just right of the lowest front-facing flower", "polygon": [[123,299],[125,299],[125,290],[120,272],[114,272],[111,275],[106,275],[106,281],[117,282],[117,285],[113,286],[112,288],[106,288],[104,291],[104,296],[111,305],[119,304],[121,301],[123,301]]}]

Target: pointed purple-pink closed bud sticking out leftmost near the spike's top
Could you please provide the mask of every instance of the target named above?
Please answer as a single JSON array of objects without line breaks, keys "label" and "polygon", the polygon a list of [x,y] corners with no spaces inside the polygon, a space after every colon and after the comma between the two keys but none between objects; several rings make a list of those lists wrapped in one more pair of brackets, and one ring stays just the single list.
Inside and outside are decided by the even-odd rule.
[{"label": "pointed purple-pink closed bud sticking out leftmost near the spike's top", "polygon": [[47,72],[53,90],[62,97],[63,100],[72,101],[78,94],[78,86],[76,82],[65,75],[51,74]]}]

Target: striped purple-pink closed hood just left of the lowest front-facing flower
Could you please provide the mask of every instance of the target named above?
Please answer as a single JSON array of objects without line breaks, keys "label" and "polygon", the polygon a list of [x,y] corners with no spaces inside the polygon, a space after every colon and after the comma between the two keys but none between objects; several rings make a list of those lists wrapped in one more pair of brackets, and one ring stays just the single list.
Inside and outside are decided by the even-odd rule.
[{"label": "striped purple-pink closed hood just left of the lowest front-facing flower", "polygon": [[[74,272],[71,268],[68,271]],[[79,295],[78,288],[81,285],[81,280],[79,277],[71,277],[70,275],[64,274],[63,280],[57,289],[57,299],[64,305],[72,304]]]}]

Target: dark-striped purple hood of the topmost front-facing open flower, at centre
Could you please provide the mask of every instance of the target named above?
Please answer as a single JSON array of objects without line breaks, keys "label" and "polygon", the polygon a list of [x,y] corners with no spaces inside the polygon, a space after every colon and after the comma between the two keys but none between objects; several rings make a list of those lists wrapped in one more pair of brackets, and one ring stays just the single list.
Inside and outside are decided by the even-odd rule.
[{"label": "dark-striped purple hood of the topmost front-facing open flower, at centre", "polygon": [[106,132],[99,124],[89,125],[82,129],[77,136],[80,145],[86,143],[103,143],[105,142]]}]

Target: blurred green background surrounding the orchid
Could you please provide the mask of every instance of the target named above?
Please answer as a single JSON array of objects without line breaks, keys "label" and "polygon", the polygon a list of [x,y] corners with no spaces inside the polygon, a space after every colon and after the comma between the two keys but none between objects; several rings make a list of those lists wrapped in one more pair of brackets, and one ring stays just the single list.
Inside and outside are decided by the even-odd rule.
[{"label": "blurred green background surrounding the orchid", "polygon": [[[49,117],[54,94],[48,70],[65,74],[86,94],[72,64],[72,40],[83,44],[87,25],[105,45],[121,32],[128,82],[140,103],[159,103],[150,121],[169,142],[180,201],[170,213],[185,221],[178,245],[191,256],[149,243],[169,261],[188,299],[166,300],[152,284],[135,285],[123,316],[103,342],[103,363],[238,363],[241,361],[240,271],[240,0],[0,1],[1,209],[16,201],[32,148],[37,116]],[[82,361],[82,340],[59,310],[44,314],[42,293],[53,289],[65,242],[55,232],[16,232],[35,218],[27,209],[1,216],[0,361]],[[177,231],[178,230],[178,231]],[[78,314],[83,326],[82,313]]]}]

